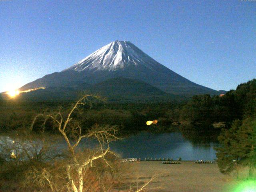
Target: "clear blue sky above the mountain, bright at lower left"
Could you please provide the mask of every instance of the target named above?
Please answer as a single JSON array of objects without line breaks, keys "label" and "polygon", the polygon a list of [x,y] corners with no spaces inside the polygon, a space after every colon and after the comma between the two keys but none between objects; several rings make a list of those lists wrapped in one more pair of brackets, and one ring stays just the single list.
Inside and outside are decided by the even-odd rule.
[{"label": "clear blue sky above the mountain, bright at lower left", "polygon": [[256,1],[0,0],[0,92],[128,40],[189,80],[256,78]]}]

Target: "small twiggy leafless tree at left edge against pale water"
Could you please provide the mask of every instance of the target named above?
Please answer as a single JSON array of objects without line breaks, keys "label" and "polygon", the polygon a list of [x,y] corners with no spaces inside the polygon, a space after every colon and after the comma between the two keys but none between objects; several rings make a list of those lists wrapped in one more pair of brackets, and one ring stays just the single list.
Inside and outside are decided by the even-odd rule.
[{"label": "small twiggy leafless tree at left edge against pale water", "polygon": [[24,162],[43,162],[60,154],[54,152],[56,145],[48,137],[22,132],[0,137],[0,158],[8,165],[22,166]]}]

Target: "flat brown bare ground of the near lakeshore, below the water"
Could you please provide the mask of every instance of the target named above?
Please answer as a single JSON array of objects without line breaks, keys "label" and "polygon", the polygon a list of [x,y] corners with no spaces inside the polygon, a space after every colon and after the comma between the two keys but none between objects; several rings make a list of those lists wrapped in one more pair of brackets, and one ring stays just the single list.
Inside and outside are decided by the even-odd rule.
[{"label": "flat brown bare ground of the near lakeshore, below the water", "polygon": [[[181,164],[162,164],[160,161],[153,161],[127,162],[121,166],[123,171],[116,177],[114,189],[110,191],[134,192],[157,174],[144,192],[230,192],[230,187],[239,182],[231,176],[221,174],[217,164],[195,164],[190,161],[182,161]],[[127,172],[130,174],[126,174]],[[91,189],[96,189],[95,185],[92,186],[92,180],[89,181],[85,184]],[[0,178],[1,192],[24,191],[20,190],[20,183],[8,182],[10,181]]]}]

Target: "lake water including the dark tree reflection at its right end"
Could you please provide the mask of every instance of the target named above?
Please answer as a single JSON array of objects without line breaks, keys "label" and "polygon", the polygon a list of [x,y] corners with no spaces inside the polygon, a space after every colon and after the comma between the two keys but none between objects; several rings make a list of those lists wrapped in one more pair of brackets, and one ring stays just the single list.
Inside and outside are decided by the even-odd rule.
[{"label": "lake water including the dark tree reflection at its right end", "polygon": [[[200,130],[182,130],[182,133],[148,133],[143,132],[125,139],[114,141],[110,144],[111,150],[117,152],[122,158],[173,158],[177,160],[215,160],[217,143],[211,139],[212,134],[200,135]],[[4,136],[5,137],[5,136]],[[206,142],[208,141],[208,142]],[[12,140],[10,140],[12,144]],[[1,144],[1,143],[0,143]],[[79,148],[83,149],[96,146],[96,141],[82,140]],[[66,149],[66,142],[58,138],[56,151],[60,153]]]}]

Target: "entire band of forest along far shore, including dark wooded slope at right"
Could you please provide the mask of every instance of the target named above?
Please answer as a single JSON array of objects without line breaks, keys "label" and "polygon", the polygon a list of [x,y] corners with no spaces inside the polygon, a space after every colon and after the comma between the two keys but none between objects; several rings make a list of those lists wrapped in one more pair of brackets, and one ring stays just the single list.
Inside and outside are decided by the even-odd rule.
[{"label": "entire band of forest along far shore, including dark wooded slope at right", "polygon": [[[233,120],[242,119],[255,113],[256,79],[237,86],[224,96],[208,94],[193,96],[187,102],[148,103],[148,104],[102,104],[94,103],[92,108],[86,106],[86,112],[80,117],[84,128],[94,124],[117,125],[122,132],[137,132],[152,129],[146,126],[148,120],[158,120],[157,130],[172,130],[173,124],[210,125],[225,122],[230,127]],[[44,111],[68,110],[70,102],[18,102],[2,101],[0,103],[0,132],[25,128],[33,117]],[[156,130],[155,128],[153,128]]]}]

